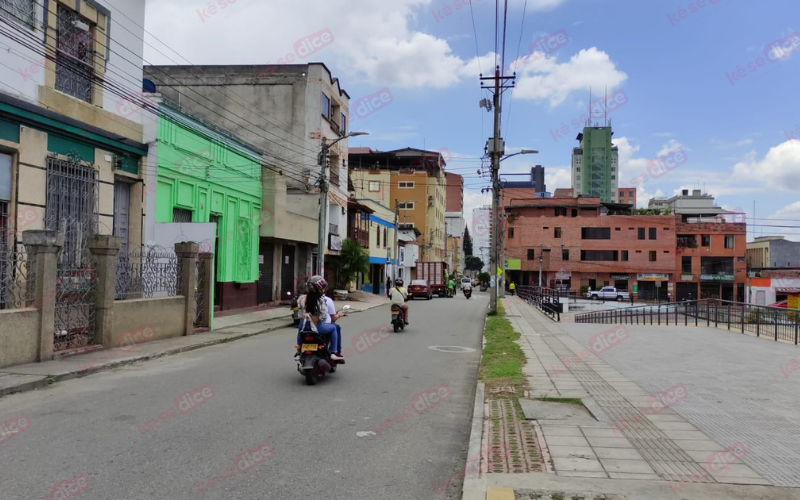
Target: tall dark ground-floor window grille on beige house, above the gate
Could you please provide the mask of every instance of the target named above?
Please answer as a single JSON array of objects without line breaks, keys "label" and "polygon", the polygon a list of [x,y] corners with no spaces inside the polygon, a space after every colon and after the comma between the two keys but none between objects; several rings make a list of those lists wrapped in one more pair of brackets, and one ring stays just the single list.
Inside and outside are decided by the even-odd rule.
[{"label": "tall dark ground-floor window grille on beige house, above the gate", "polygon": [[45,228],[64,233],[61,259],[76,266],[86,263],[86,240],[97,234],[97,170],[77,154],[47,159]]}]

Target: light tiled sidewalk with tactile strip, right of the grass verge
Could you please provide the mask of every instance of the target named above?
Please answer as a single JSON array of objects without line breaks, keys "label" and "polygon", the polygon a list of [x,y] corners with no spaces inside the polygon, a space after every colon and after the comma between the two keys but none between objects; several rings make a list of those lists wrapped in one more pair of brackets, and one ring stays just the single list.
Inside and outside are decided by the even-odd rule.
[{"label": "light tiled sidewalk with tactile strip, right of the grass verge", "polygon": [[[524,301],[503,305],[527,357],[529,391],[518,398],[523,423],[541,430],[538,445],[552,463],[544,469],[553,472],[481,473],[465,481],[463,499],[800,499],[800,489],[769,486],[746,465],[741,443],[717,443],[670,408],[680,401],[679,386],[651,395]],[[480,389],[478,397],[474,418],[484,435],[473,432],[471,450],[489,427],[489,412],[478,405],[495,403],[484,402]],[[545,397],[583,405],[537,401]]]}]

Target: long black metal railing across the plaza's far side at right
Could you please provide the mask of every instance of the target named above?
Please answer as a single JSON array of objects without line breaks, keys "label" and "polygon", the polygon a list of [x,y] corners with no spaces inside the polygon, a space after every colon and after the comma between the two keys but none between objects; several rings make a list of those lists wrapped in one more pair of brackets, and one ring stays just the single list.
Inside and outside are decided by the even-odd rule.
[{"label": "long black metal railing across the plaza's far side at right", "polygon": [[575,316],[576,323],[715,326],[798,343],[800,311],[719,299],[626,307]]}]

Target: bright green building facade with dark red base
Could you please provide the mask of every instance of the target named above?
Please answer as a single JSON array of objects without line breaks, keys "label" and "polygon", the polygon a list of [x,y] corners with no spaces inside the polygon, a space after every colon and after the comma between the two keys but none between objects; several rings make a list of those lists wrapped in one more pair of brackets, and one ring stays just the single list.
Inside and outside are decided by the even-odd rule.
[{"label": "bright green building facade with dark red base", "polygon": [[164,104],[161,110],[156,187],[151,189],[155,224],[216,223],[215,238],[200,242],[201,251],[215,254],[215,305],[222,310],[255,306],[263,217],[260,153]]}]

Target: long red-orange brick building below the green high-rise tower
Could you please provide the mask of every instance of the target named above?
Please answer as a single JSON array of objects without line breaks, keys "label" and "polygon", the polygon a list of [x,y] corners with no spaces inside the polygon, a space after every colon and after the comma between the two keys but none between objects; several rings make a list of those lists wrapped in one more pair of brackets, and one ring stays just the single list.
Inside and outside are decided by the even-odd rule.
[{"label": "long red-orange brick building below the green high-rise tower", "polygon": [[[505,256],[519,259],[521,269],[506,271],[506,282],[538,285],[541,266],[542,285],[551,288],[615,286],[644,298],[670,292],[673,299],[691,293],[733,300],[734,291],[744,297],[744,224],[616,215],[599,197],[521,199],[513,191],[503,198]],[[693,238],[697,249],[690,248]]]}]

